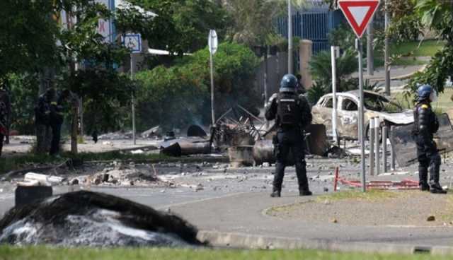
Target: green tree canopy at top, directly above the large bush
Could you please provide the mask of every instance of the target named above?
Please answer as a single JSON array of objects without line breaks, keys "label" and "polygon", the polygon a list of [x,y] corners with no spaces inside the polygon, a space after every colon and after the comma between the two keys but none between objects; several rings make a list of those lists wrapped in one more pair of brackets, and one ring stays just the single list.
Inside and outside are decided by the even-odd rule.
[{"label": "green tree canopy at top, directly above the large bush", "polygon": [[[210,29],[216,29],[219,37],[222,37],[229,20],[222,6],[209,0],[130,2],[153,11],[157,16],[149,20],[136,10],[129,10],[128,13],[119,11],[118,28],[141,32],[142,37],[148,40],[153,48],[167,49],[181,56],[183,53],[195,52],[205,47]],[[144,21],[146,23],[143,23]]]}]

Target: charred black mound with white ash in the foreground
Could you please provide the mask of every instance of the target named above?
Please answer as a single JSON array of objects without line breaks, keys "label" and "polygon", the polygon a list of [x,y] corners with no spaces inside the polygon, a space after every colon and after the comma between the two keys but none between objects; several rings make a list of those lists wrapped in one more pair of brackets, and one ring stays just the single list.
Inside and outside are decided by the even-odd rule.
[{"label": "charred black mound with white ash in the foreground", "polygon": [[91,191],[12,208],[0,220],[0,243],[63,247],[201,246],[197,229],[176,215]]}]

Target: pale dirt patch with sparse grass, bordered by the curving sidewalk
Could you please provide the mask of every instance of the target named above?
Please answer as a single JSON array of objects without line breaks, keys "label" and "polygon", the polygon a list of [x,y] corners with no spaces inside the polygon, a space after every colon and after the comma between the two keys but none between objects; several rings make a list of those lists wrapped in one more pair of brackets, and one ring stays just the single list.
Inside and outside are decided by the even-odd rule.
[{"label": "pale dirt patch with sparse grass, bordered by the curving sidewalk", "polygon": [[[453,226],[453,195],[386,191],[372,199],[321,197],[271,208],[268,215],[311,223],[343,225]],[[434,220],[428,218],[434,216]]]}]

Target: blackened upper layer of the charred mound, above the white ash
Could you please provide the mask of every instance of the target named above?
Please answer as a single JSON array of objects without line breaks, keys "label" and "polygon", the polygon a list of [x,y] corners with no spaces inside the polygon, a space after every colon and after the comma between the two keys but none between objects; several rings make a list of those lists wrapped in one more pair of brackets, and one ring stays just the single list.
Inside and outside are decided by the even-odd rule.
[{"label": "blackened upper layer of the charred mound, above the white ash", "polygon": [[[43,226],[57,229],[59,226],[65,225],[69,215],[89,215],[99,209],[119,213],[117,220],[130,228],[176,235],[188,244],[203,245],[197,240],[197,228],[177,215],[156,211],[154,208],[127,199],[92,191],[71,192],[38,203],[12,208],[0,220],[0,235],[8,226],[25,218],[33,223],[41,223]],[[50,237],[50,240],[59,239]],[[18,242],[13,241],[14,237],[9,237],[8,240],[11,244]]]}]

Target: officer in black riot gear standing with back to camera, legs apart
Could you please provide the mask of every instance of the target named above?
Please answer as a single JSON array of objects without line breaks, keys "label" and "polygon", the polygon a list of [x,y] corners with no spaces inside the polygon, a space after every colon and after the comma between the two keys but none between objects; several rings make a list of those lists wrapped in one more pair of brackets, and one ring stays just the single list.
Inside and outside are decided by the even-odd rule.
[{"label": "officer in black riot gear standing with back to camera, legs apart", "polygon": [[304,136],[302,131],[311,124],[311,108],[303,95],[297,94],[297,78],[292,74],[283,76],[280,93],[275,93],[265,107],[265,117],[275,119],[277,136],[274,137],[275,176],[272,197],[280,197],[282,182],[287,166],[289,151],[294,155],[299,195],[310,196],[309,183],[306,179]]}]

